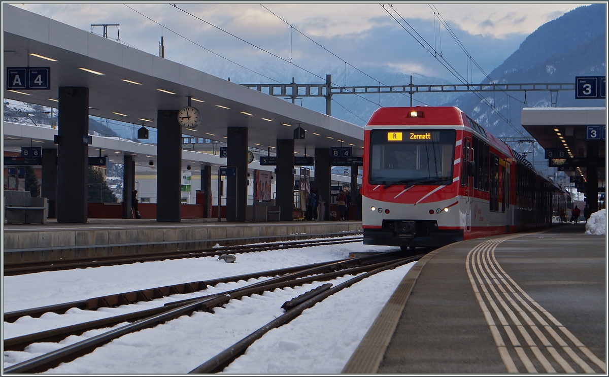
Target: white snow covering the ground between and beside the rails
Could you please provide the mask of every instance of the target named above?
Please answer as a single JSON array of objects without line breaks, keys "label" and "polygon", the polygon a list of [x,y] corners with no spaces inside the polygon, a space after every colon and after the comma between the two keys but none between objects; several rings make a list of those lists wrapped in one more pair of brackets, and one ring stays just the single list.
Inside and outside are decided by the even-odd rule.
[{"label": "white snow covering the ground between and beside the rails", "polygon": [[[237,255],[227,264],[217,257],[173,261],[144,262],[124,266],[81,270],[42,272],[4,278],[4,311],[52,305],[100,295],[163,286],[185,281],[241,275],[261,270],[330,261],[345,258],[352,251],[396,250],[392,247],[345,245],[295,248],[272,252]],[[297,319],[253,344],[236,360],[228,373],[340,373],[376,319],[395,287],[413,264],[379,273],[326,298],[307,309]],[[349,277],[329,281],[334,285]],[[218,284],[216,287],[187,295],[94,312],[71,309],[65,315],[46,314],[40,319],[24,317],[15,323],[4,323],[4,339],[71,323],[161,306],[166,302],[196,295],[213,294],[258,280]],[[262,295],[231,300],[215,314],[195,312],[190,316],[143,329],[113,340],[91,354],[51,373],[187,373],[220,351],[283,314],[281,305],[315,286],[276,289]],[[117,325],[117,326],[122,326]],[[95,336],[105,330],[93,330],[81,336],[70,336],[61,344],[33,344],[26,351],[5,351],[4,367],[57,350]],[[108,362],[111,360],[112,362]]]}]

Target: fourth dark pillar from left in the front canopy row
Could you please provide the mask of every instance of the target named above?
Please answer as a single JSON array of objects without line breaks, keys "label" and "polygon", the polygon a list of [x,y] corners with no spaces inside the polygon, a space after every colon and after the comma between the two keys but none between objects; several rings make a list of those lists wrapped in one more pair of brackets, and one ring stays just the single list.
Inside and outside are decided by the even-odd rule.
[{"label": "fourth dark pillar from left in the front canopy row", "polygon": [[281,206],[279,219],[294,220],[294,139],[277,140],[276,205]]}]

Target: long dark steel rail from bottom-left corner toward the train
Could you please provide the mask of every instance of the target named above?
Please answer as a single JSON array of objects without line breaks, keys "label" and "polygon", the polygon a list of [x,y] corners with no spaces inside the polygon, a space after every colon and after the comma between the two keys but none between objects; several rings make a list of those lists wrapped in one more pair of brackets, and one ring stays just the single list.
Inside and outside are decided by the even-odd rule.
[{"label": "long dark steel rail from bottom-left corner toward the train", "polygon": [[[369,260],[372,262],[376,262],[375,259],[385,259],[380,264],[390,264],[392,259],[395,256],[403,255],[403,252],[391,252],[384,253],[383,255],[373,255],[373,256],[364,256],[361,258],[353,258],[350,262],[353,262],[356,266],[358,264],[362,264],[365,260]],[[346,275],[348,273],[354,272],[362,272],[362,270],[370,270],[375,269],[379,266],[379,262],[357,266],[351,269],[343,269],[341,266],[345,261],[336,261],[329,263],[327,266],[318,266],[313,267],[311,269],[307,269],[301,272],[295,272],[291,275],[291,280],[287,276],[281,276],[269,279],[264,282],[259,282],[255,284],[251,284],[250,286],[235,289],[233,291],[228,291],[222,294],[214,294],[211,296],[201,297],[195,301],[183,302],[176,305],[174,303],[170,303],[164,306],[165,311],[160,313],[155,313],[150,315],[146,319],[137,320],[135,323],[130,323],[129,325],[121,326],[120,328],[113,329],[104,334],[99,334],[98,336],[91,337],[86,340],[82,340],[81,342],[77,342],[76,344],[69,345],[67,347],[60,348],[59,350],[52,351],[47,354],[43,354],[36,358],[30,359],[28,361],[24,361],[11,367],[5,368],[4,373],[39,373],[52,368],[61,362],[69,362],[72,361],[83,354],[90,353],[95,348],[100,347],[100,345],[106,344],[117,337],[123,336],[128,333],[132,333],[134,331],[138,331],[143,328],[149,328],[161,323],[165,323],[169,320],[180,317],[181,315],[189,315],[197,310],[209,310],[216,306],[224,305],[228,301],[233,298],[240,298],[245,295],[258,294],[264,291],[273,290],[281,287],[288,286],[297,286],[305,283],[309,283],[312,281],[323,281],[330,280],[340,275]],[[331,269],[332,272],[323,273],[322,275],[314,275],[306,278],[301,278],[302,275],[311,274],[315,272],[320,272],[323,269]],[[342,269],[339,271],[334,271],[333,269]],[[266,283],[266,284],[265,284]]]}]

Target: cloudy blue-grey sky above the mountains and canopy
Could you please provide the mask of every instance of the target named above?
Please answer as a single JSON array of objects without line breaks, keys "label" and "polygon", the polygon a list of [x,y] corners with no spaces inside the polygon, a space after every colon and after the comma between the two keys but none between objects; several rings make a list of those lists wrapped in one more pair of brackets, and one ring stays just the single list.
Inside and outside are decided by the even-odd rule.
[{"label": "cloudy blue-grey sky above the mountains and canopy", "polygon": [[[163,36],[167,59],[236,82],[287,83],[297,76],[319,83],[333,73],[337,84],[355,84],[347,78],[356,68],[457,83],[440,55],[468,81],[480,82],[484,76],[470,57],[490,72],[542,24],[588,4],[392,5],[16,4],[88,31],[91,24],[120,24],[119,43],[150,54],[158,54]],[[117,28],[108,27],[108,36],[116,39]]]}]

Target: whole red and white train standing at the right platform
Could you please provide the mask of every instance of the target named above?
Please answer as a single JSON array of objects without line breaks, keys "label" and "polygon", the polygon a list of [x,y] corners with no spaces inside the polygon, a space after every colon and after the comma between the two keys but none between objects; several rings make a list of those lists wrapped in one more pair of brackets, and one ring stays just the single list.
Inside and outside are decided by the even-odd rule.
[{"label": "whole red and white train standing at the right platform", "polygon": [[571,197],[457,107],[384,107],[364,130],[364,244],[437,247],[565,220]]}]

